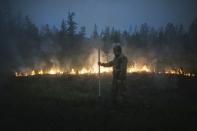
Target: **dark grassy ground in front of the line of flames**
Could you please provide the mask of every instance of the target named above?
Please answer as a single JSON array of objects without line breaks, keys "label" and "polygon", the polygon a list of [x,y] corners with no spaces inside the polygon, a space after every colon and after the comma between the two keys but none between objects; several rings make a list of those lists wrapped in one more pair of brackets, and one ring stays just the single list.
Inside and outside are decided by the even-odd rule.
[{"label": "dark grassy ground in front of the line of flames", "polygon": [[4,130],[197,130],[196,77],[130,74],[127,99],[110,101],[111,76],[9,77],[1,89]]}]

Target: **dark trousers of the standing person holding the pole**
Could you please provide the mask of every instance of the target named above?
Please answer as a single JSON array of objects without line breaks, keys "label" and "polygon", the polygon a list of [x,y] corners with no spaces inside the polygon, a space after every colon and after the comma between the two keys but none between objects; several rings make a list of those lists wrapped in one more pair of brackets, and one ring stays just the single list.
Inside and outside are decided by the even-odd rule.
[{"label": "dark trousers of the standing person holding the pole", "polygon": [[126,80],[113,80],[111,99],[112,103],[116,104],[119,98],[126,99]]}]

